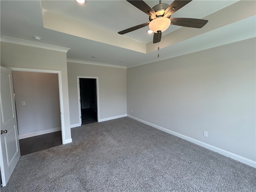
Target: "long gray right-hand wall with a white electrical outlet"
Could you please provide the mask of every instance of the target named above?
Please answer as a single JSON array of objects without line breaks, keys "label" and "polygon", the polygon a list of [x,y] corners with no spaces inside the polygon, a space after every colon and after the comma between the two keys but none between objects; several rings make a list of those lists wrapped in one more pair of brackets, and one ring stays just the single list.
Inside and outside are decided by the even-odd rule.
[{"label": "long gray right-hand wall with a white electrical outlet", "polygon": [[255,161],[255,42],[128,68],[127,114]]}]

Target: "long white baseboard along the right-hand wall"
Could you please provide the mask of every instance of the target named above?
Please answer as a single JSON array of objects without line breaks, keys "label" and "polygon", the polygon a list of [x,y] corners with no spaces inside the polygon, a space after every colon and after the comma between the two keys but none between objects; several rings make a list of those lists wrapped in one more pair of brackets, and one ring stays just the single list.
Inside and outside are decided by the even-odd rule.
[{"label": "long white baseboard along the right-hand wall", "polygon": [[168,130],[168,129],[166,129],[166,128],[157,126],[157,125],[152,124],[152,123],[150,123],[150,122],[146,122],[146,121],[141,120],[141,119],[139,119],[139,118],[136,118],[136,117],[134,117],[134,116],[130,116],[130,115],[127,115],[127,116],[130,117],[130,118],[132,118],[132,119],[134,119],[134,120],[137,120],[137,121],[139,121],[139,122],[142,122],[142,123],[144,123],[144,124],[147,124],[147,125],[149,125],[149,126],[152,126],[152,127],[154,127],[154,128],[157,128],[157,129],[159,129],[159,130],[162,130],[162,131],[167,132],[167,133],[169,133],[169,134],[172,134],[172,135],[174,135],[174,136],[180,137],[180,138],[182,138],[182,139],[184,139],[184,140],[190,141],[190,142],[192,142],[192,143],[194,143],[194,144],[197,144],[197,145],[199,145],[199,146],[202,146],[202,147],[204,147],[204,148],[207,148],[207,149],[209,149],[209,150],[212,150],[212,151],[214,151],[214,152],[217,152],[217,153],[219,153],[219,154],[222,154],[222,155],[224,155],[224,156],[230,157],[230,158],[232,158],[232,159],[234,159],[234,160],[237,160],[237,161],[239,161],[239,162],[242,162],[242,163],[244,163],[244,164],[247,164],[247,165],[249,165],[249,166],[252,166],[252,167],[256,168],[256,162],[253,161],[253,160],[250,160],[250,159],[248,159],[248,158],[239,156],[239,155],[234,154],[234,153],[232,153],[232,152],[228,152],[228,151],[223,150],[223,149],[220,149],[220,148],[218,148],[218,147],[209,145],[209,144],[204,143],[204,142],[201,142],[201,141],[199,141],[199,140],[190,138],[190,137],[188,137],[188,136],[179,134],[179,133],[177,133],[177,132]]}]

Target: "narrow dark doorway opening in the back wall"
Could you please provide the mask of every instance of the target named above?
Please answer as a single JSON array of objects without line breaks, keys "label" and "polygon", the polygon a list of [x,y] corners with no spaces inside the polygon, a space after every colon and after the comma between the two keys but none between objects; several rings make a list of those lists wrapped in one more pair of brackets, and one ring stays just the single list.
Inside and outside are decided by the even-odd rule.
[{"label": "narrow dark doorway opening in the back wall", "polygon": [[96,79],[79,78],[82,125],[98,122]]}]

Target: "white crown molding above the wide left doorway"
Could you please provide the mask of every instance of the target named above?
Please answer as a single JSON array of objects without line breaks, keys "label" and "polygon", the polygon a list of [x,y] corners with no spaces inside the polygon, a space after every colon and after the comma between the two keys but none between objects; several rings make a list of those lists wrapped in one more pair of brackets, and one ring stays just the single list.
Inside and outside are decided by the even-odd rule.
[{"label": "white crown molding above the wide left doorway", "polygon": [[34,42],[34,41],[29,41],[29,40],[24,40],[24,39],[18,39],[18,38],[13,38],[13,37],[8,37],[8,36],[1,36],[0,41],[6,42],[6,43],[13,43],[13,44],[43,48],[43,49],[48,49],[48,50],[60,51],[60,52],[65,52],[65,53],[68,52],[68,50],[70,50],[70,48],[66,48],[66,47],[44,44],[44,43],[39,43],[39,42]]}]

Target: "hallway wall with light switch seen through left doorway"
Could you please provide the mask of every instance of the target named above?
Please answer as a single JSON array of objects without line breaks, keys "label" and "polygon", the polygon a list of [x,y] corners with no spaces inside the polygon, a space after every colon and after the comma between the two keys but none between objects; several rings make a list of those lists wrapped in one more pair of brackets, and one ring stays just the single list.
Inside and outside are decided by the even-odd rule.
[{"label": "hallway wall with light switch seen through left doorway", "polygon": [[13,71],[12,78],[19,135],[60,128],[58,74]]}]

